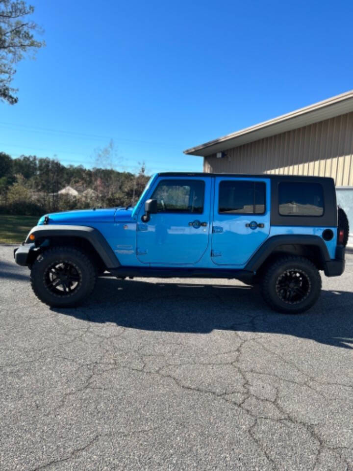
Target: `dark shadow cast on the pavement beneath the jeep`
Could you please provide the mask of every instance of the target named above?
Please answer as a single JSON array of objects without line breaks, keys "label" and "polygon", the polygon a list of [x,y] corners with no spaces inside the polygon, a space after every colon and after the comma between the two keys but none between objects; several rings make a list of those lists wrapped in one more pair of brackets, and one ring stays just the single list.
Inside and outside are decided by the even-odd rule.
[{"label": "dark shadow cast on the pavement beneath the jeep", "polygon": [[277,333],[353,348],[352,306],[352,292],[323,290],[306,313],[279,314],[264,304],[258,288],[100,278],[83,306],[52,311],[148,331]]}]

